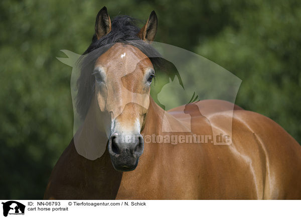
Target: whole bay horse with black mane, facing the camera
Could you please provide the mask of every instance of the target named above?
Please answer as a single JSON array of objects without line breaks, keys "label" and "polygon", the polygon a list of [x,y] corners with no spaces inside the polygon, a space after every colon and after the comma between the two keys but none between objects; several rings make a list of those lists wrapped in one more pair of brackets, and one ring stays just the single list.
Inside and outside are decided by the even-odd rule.
[{"label": "whole bay horse with black mane, facing the camera", "polygon": [[[75,136],[87,144],[92,139],[105,143],[106,149],[101,157],[87,159],[73,138],[52,171],[44,199],[301,199],[301,147],[277,123],[221,100],[193,102],[166,113],[150,97],[157,63],[147,52],[157,26],[154,11],[142,29],[130,17],[111,22],[105,7],[99,11],[85,54],[112,46],[90,64],[89,73],[80,75],[77,109],[84,122]],[[122,43],[130,40],[141,43]],[[132,103],[124,105],[124,99]],[[208,111],[209,119],[198,108]],[[142,137],[162,135],[163,122],[178,128],[190,123],[199,135],[212,135],[214,129],[226,135],[230,130],[223,123],[230,118],[230,145],[155,143]],[[105,126],[105,142],[100,125]],[[137,140],[119,142],[118,134]]]}]

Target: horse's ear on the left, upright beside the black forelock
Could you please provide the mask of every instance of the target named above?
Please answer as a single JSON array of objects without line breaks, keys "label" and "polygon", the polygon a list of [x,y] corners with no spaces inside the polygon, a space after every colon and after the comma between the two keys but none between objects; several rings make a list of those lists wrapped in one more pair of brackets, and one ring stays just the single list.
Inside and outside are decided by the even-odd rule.
[{"label": "horse's ear on the left, upright beside the black forelock", "polygon": [[106,7],[103,7],[96,16],[95,33],[97,40],[111,31],[111,20]]}]

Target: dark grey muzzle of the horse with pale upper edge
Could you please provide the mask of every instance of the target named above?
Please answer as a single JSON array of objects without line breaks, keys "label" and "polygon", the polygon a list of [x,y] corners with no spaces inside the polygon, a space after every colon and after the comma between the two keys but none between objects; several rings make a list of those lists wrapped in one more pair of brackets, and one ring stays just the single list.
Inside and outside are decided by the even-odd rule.
[{"label": "dark grey muzzle of the horse with pale upper edge", "polygon": [[108,150],[114,168],[118,171],[134,170],[143,153],[143,146],[143,137],[140,133],[111,134],[108,140]]}]

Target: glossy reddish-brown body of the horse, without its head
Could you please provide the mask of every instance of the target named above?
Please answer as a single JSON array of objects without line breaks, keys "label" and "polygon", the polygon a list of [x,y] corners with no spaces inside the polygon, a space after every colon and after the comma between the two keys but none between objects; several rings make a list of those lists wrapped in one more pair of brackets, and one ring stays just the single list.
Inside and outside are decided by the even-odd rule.
[{"label": "glossy reddish-brown body of the horse, without its head", "polygon": [[[156,128],[164,110],[150,100],[143,133],[163,134]],[[210,118],[212,128],[232,112],[231,103],[200,101],[220,111]],[[224,111],[223,111],[224,108]],[[106,151],[96,160],[80,156],[71,141],[56,164],[46,199],[300,199],[301,147],[274,121],[236,107],[232,144],[145,143],[137,168],[116,171]],[[183,111],[183,106],[170,114]],[[181,113],[179,113],[181,114]],[[168,115],[179,122],[177,115]],[[178,117],[181,119],[181,117]],[[197,118],[196,118],[197,119]],[[219,122],[214,122],[214,120]],[[211,127],[210,127],[211,128]],[[199,123],[199,134],[210,134]],[[226,134],[227,130],[223,130]],[[172,133],[175,134],[175,133]]]}]

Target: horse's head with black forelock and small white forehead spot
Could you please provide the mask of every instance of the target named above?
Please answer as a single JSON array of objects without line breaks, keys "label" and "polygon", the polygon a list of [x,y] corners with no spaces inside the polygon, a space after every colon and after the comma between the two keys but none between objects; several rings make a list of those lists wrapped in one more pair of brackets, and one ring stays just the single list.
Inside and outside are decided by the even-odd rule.
[{"label": "horse's head with black forelock and small white forehead spot", "polygon": [[90,119],[96,129],[105,132],[114,168],[130,171],[143,152],[140,132],[155,77],[155,67],[146,53],[157,32],[157,16],[153,11],[141,29],[132,25],[129,17],[114,21],[111,23],[105,7],[96,17],[95,35],[84,53],[77,81],[77,109],[83,120]]}]

